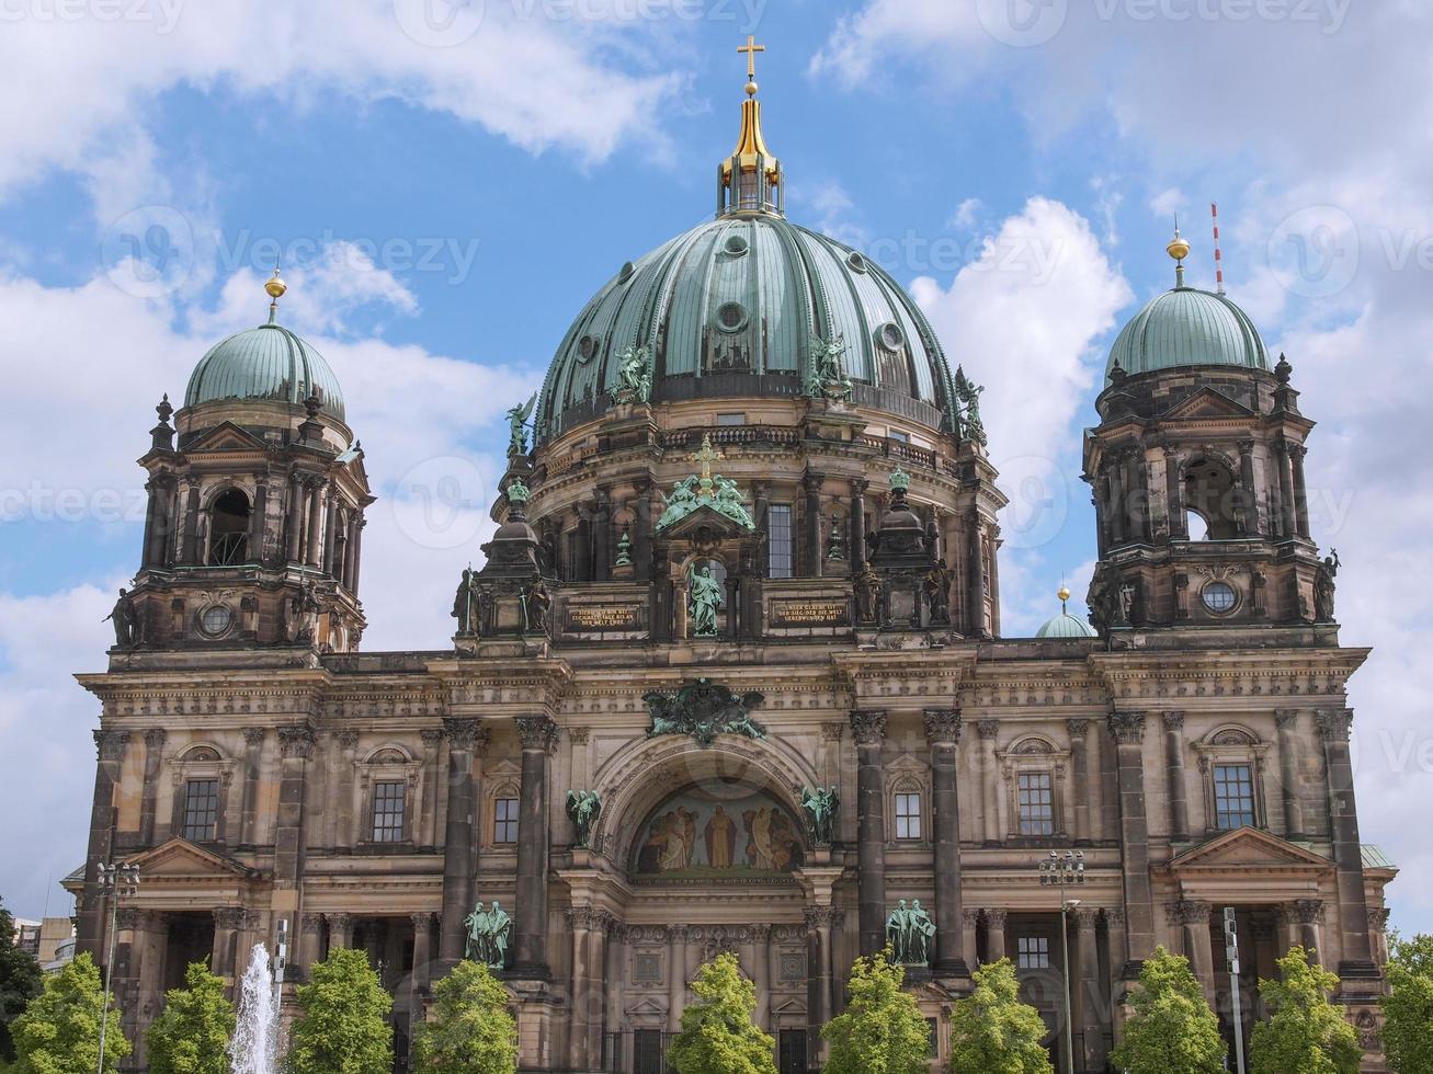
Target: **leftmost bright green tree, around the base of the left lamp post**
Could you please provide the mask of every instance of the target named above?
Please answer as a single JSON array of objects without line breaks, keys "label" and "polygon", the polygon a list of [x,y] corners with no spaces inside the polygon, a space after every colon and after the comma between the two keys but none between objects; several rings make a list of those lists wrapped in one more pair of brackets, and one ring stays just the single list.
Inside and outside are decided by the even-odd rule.
[{"label": "leftmost bright green tree, around the base of the left lamp post", "polygon": [[109,1007],[105,1034],[105,1070],[129,1054],[119,1031],[115,1000],[103,990],[99,967],[89,952],[44,979],[44,991],[14,1020],[16,1074],[77,1074],[99,1065],[99,1021]]}]

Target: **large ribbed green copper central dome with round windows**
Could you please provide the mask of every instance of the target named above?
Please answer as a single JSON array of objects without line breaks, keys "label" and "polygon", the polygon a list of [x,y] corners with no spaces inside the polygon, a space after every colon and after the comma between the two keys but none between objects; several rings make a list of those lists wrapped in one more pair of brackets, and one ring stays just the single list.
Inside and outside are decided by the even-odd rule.
[{"label": "large ribbed green copper central dome with round windows", "polygon": [[837,338],[857,405],[947,424],[940,344],[887,272],[778,212],[724,213],[623,265],[588,302],[543,384],[539,438],[605,411],[629,348],[649,348],[653,402],[797,397],[813,344]]}]

